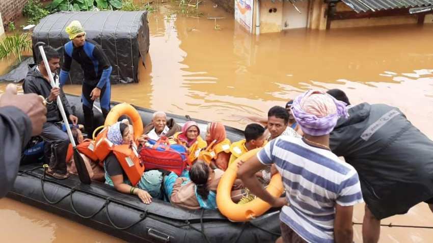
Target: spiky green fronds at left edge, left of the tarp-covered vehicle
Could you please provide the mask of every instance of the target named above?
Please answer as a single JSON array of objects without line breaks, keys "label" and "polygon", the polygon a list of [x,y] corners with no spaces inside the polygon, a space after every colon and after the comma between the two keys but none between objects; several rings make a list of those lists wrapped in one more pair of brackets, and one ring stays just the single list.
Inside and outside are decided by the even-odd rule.
[{"label": "spiky green fronds at left edge, left of the tarp-covered vehicle", "polygon": [[13,32],[11,36],[6,36],[0,42],[0,59],[14,55],[20,62],[22,59],[22,52],[32,49],[32,41],[28,33],[15,32],[15,23],[9,23],[9,30]]}]

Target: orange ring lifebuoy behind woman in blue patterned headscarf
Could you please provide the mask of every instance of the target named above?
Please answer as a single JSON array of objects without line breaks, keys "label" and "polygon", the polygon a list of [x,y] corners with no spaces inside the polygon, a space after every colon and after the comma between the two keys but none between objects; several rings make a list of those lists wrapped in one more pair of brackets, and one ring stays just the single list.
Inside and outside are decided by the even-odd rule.
[{"label": "orange ring lifebuoy behind woman in blue patterned headscarf", "polygon": [[134,127],[134,138],[137,140],[143,134],[143,121],[138,111],[128,103],[115,105],[105,119],[105,126],[111,126],[119,120],[119,117],[126,115],[132,121]]}]

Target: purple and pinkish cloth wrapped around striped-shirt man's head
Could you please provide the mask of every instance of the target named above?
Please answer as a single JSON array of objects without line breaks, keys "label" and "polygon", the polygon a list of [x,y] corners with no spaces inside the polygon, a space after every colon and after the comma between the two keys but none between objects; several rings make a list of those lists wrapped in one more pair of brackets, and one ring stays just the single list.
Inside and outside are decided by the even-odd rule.
[{"label": "purple and pinkish cloth wrapped around striped-shirt man's head", "polygon": [[338,118],[348,117],[346,103],[317,90],[309,90],[297,96],[292,114],[304,133],[322,136],[331,133]]}]

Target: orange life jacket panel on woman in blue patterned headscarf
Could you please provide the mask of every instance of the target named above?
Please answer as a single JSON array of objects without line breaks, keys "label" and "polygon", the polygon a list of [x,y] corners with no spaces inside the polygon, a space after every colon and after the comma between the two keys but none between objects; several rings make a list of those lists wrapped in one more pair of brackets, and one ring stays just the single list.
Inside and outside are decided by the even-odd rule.
[{"label": "orange life jacket panel on woman in blue patterned headscarf", "polygon": [[122,144],[113,146],[112,150],[131,184],[137,185],[144,173],[144,165],[139,158],[137,148]]}]

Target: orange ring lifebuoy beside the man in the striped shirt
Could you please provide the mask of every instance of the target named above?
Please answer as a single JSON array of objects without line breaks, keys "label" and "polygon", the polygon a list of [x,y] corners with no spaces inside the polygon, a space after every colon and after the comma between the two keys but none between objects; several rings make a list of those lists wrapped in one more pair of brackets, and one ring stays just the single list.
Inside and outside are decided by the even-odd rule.
[{"label": "orange ring lifebuoy beside the man in the striped shirt", "polygon": [[[248,221],[252,220],[264,212],[266,212],[270,205],[256,198],[246,204],[236,204],[231,200],[230,192],[233,182],[236,179],[237,164],[239,161],[246,161],[252,156],[255,156],[261,148],[256,148],[242,154],[234,163],[224,172],[220,183],[217,188],[217,205],[220,212],[231,221]],[[284,192],[283,182],[280,174],[275,174],[269,182],[266,191],[274,197],[280,197]]]}]

